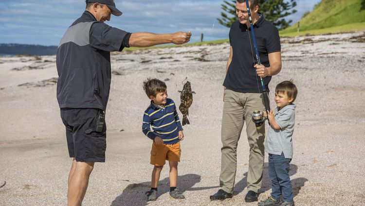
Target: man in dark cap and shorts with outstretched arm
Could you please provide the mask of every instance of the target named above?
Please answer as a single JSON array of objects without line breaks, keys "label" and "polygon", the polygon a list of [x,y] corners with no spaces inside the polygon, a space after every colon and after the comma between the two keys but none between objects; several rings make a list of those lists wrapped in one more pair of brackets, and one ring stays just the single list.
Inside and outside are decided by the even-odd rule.
[{"label": "man in dark cap and shorts with outstretched arm", "polygon": [[113,0],[86,0],[86,10],[62,37],[56,55],[57,101],[70,157],[68,206],[81,206],[95,162],[105,162],[105,110],[110,92],[110,51],[125,47],[183,44],[191,33],[128,33],[110,27],[121,16]]}]

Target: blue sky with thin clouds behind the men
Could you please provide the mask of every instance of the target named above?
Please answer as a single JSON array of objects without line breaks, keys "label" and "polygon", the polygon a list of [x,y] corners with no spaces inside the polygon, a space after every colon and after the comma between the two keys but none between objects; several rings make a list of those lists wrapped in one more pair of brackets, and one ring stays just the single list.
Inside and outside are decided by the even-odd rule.
[{"label": "blue sky with thin clouds behind the men", "polygon": [[[1,0],[2,1],[2,0]],[[296,0],[296,22],[320,0]],[[191,42],[228,38],[229,28],[217,21],[223,0],[115,0],[123,12],[110,26],[128,32],[157,34],[191,31]],[[58,45],[73,21],[85,10],[84,0],[9,0],[0,4],[0,43]]]}]

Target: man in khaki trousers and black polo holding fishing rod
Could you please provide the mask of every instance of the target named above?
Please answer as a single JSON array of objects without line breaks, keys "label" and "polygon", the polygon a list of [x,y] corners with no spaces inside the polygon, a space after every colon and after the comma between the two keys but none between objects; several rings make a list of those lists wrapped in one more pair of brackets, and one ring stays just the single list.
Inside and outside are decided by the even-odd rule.
[{"label": "man in khaki trousers and black polo holding fishing rod", "polygon": [[280,38],[278,30],[257,13],[258,0],[249,0],[252,21],[256,35],[261,65],[257,65],[246,2],[237,0],[235,21],[229,32],[231,51],[226,67],[223,95],[223,116],[221,129],[221,171],[220,189],[211,200],[231,198],[237,169],[237,144],[244,122],[250,145],[247,174],[246,202],[257,201],[257,190],[261,188],[264,166],[265,127],[256,129],[251,115],[258,109],[263,111],[260,78],[266,88],[271,76],[281,70]]}]

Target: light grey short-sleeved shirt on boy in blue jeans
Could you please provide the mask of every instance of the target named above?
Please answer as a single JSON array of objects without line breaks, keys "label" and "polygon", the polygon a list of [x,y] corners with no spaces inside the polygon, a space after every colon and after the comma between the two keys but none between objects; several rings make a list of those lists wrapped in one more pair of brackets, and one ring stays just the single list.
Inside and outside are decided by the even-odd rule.
[{"label": "light grey short-sleeved shirt on boy in blue jeans", "polygon": [[277,111],[275,109],[275,121],[281,129],[274,129],[270,126],[265,139],[265,151],[269,154],[281,155],[292,159],[293,143],[292,135],[295,123],[295,104],[290,104]]}]

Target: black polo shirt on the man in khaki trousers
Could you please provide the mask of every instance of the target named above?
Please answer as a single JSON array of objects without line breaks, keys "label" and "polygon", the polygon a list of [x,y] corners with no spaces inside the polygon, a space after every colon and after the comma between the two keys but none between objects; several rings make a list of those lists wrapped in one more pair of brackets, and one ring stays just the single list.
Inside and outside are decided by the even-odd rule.
[{"label": "black polo shirt on the man in khaki trousers", "polygon": [[[270,67],[268,54],[281,50],[279,32],[262,15],[254,24],[254,31],[260,62],[265,67]],[[254,68],[257,60],[251,28],[240,24],[238,20],[233,22],[229,31],[229,42],[233,55],[223,86],[241,93],[262,93],[260,77]],[[270,80],[271,76],[264,78],[266,90],[269,90]]]}]

